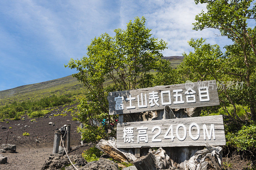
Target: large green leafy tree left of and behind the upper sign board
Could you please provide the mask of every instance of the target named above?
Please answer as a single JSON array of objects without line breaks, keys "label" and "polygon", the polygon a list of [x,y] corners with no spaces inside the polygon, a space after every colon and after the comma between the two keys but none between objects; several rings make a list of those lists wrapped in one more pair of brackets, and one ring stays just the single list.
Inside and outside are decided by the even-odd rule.
[{"label": "large green leafy tree left of and behind the upper sign board", "polygon": [[[144,17],[137,17],[127,24],[125,30],[115,29],[114,37],[107,33],[95,37],[87,47],[88,57],[71,59],[65,65],[76,68],[78,73],[73,76],[89,90],[75,114],[86,124],[86,132],[80,130],[84,131],[84,138],[96,128],[95,121],[113,120],[108,115],[108,92],[151,87],[156,72],[167,66],[161,59],[161,51],[167,48],[166,42],[153,38],[145,22]],[[94,135],[90,134],[91,141],[98,140],[99,136],[106,137],[98,127],[98,133],[93,131]]]}]

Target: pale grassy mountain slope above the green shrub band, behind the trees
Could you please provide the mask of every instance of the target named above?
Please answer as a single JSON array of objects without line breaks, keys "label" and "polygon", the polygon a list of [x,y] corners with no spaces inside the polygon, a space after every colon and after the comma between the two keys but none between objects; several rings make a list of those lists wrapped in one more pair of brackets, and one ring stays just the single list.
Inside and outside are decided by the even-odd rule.
[{"label": "pale grassy mountain slope above the green shrub band, behind the trees", "polygon": [[[182,56],[169,56],[163,58],[170,61],[172,68],[176,68],[184,59]],[[43,97],[52,96],[53,94],[61,96],[68,93],[81,94],[83,92],[86,92],[86,88],[84,88],[83,84],[78,82],[72,75],[69,75],[55,80],[23,85],[13,89],[0,91],[0,106],[14,101],[22,102],[27,100],[38,100]]]}]

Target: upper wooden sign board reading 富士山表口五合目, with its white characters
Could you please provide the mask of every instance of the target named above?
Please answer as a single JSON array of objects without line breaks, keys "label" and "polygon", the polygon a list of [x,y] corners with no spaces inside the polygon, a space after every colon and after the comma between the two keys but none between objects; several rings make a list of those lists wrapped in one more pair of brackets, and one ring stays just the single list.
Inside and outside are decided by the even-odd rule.
[{"label": "upper wooden sign board reading \u5bcc\u58eb\u5c71\u8868\u53e3\u4e94\u5408\u76ee, with its white characters", "polygon": [[220,104],[215,80],[110,92],[108,102],[110,115]]}]

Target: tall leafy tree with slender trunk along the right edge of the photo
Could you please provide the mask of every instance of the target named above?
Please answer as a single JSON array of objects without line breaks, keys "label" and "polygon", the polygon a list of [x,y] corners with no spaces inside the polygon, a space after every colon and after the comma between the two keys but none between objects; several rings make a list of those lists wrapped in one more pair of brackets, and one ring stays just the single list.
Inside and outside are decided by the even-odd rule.
[{"label": "tall leafy tree with slender trunk along the right edge of the photo", "polygon": [[252,87],[255,81],[251,77],[254,76],[252,74],[255,68],[253,59],[256,57],[256,27],[249,27],[248,22],[255,22],[256,3],[252,5],[252,0],[195,0],[195,3],[206,4],[207,8],[207,12],[202,11],[196,15],[196,23],[193,24],[195,30],[215,28],[220,30],[220,36],[227,36],[234,41],[234,45],[227,47],[232,49],[234,54],[229,57],[232,57],[233,61],[243,59],[243,63],[238,67],[241,72],[228,74],[243,77],[246,82],[251,119],[255,120],[255,88]]}]

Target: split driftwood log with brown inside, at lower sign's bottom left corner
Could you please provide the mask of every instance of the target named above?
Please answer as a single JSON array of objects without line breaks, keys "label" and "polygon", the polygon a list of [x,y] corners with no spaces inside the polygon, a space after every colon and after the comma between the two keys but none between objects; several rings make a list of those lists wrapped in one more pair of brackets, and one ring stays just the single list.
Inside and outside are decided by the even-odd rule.
[{"label": "split driftwood log with brown inside, at lower sign's bottom left corner", "polygon": [[133,162],[137,159],[132,153],[129,153],[123,149],[117,149],[115,138],[109,138],[109,140],[100,139],[100,142],[96,145],[96,148],[120,162]]}]

